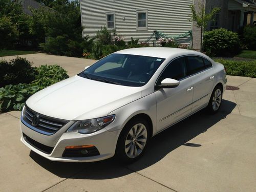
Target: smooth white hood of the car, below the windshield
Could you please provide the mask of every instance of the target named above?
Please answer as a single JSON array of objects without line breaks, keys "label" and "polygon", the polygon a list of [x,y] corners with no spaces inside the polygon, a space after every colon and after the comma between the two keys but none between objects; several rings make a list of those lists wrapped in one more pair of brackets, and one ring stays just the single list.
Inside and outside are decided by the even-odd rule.
[{"label": "smooth white hood of the car, below the windshield", "polygon": [[141,98],[141,87],[126,87],[74,76],[32,95],[26,104],[35,112],[59,119],[103,117]]}]

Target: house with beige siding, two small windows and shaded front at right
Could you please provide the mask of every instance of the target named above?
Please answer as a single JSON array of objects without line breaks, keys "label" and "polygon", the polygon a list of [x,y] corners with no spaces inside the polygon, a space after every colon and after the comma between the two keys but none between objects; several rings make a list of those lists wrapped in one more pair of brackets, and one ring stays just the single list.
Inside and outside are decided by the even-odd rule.
[{"label": "house with beige siding, two small windows and shaded front at right", "polygon": [[256,11],[253,0],[80,0],[82,35],[92,38],[105,26],[110,31],[115,29],[125,41],[133,37],[154,45],[154,32],[157,31],[174,37],[181,44],[200,49],[200,30],[190,21],[190,4],[196,9],[203,4],[206,12],[221,7],[208,30],[222,27],[237,31],[247,24],[248,15],[254,18]]}]

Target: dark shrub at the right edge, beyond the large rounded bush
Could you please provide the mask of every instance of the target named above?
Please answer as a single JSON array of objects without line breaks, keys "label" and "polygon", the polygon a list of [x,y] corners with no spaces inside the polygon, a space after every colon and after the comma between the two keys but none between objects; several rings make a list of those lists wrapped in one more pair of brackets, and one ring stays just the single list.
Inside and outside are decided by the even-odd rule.
[{"label": "dark shrub at the right edge, beyond the large rounded bush", "polygon": [[256,50],[256,26],[244,27],[242,41],[248,49]]}]

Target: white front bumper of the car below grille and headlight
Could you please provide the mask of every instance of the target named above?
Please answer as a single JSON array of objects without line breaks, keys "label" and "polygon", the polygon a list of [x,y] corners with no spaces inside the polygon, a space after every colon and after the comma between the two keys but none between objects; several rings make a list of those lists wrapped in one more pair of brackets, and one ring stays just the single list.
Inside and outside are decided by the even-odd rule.
[{"label": "white front bumper of the car below grille and headlight", "polygon": [[[66,130],[67,127],[63,126],[58,132],[48,136],[31,130],[29,127],[23,124],[22,121],[20,121],[20,132],[22,134],[20,141],[22,141],[35,153],[51,161],[92,162],[108,159],[115,155],[116,143],[121,130],[110,132],[106,129],[102,129],[98,132],[88,135],[79,133],[66,133]],[[52,152],[47,154],[41,150],[38,150],[38,148],[34,147],[29,142],[27,142],[27,140],[25,140],[24,134],[38,143],[53,147]],[[65,147],[71,145],[94,145],[97,148],[99,155],[91,157],[62,157],[62,154],[65,151]]]}]

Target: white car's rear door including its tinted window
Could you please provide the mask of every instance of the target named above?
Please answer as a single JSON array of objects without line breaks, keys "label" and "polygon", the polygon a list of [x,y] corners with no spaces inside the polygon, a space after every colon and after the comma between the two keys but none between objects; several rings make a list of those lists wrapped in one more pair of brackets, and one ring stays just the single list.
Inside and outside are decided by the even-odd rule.
[{"label": "white car's rear door including its tinted window", "polygon": [[199,56],[187,57],[188,75],[194,82],[192,112],[202,109],[208,104],[214,86],[214,70],[210,61]]}]

